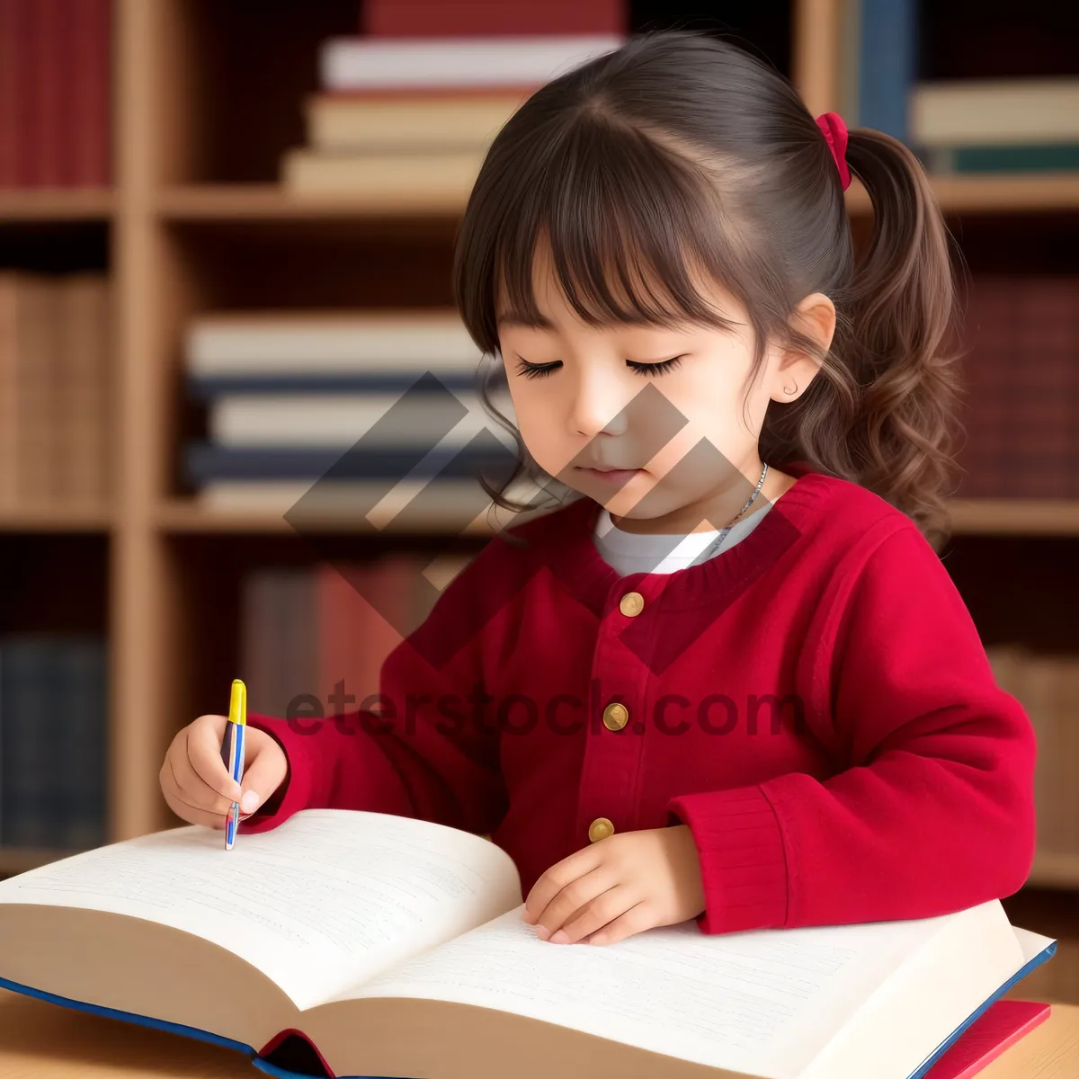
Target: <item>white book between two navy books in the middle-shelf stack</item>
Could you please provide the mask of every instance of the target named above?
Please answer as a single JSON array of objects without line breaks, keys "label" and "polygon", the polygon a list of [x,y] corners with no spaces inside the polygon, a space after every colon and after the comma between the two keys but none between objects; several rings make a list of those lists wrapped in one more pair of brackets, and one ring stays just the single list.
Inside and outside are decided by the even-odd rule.
[{"label": "white book between two navy books in the middle-shelf stack", "polygon": [[[209,406],[208,435],[229,447],[409,447],[426,445],[432,432],[453,423],[437,443],[465,446],[489,431],[509,450],[514,437],[490,418],[478,394],[455,392],[451,401],[441,394],[221,394]],[[507,393],[493,398],[503,415],[514,420]],[[461,409],[464,413],[454,422]],[[381,421],[381,422],[380,422]],[[372,431],[372,428],[375,428]]]}]

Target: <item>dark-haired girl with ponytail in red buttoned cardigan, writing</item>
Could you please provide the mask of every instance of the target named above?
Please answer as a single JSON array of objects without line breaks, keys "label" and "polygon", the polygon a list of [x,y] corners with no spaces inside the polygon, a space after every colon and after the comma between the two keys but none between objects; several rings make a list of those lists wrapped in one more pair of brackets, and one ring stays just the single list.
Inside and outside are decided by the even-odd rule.
[{"label": "dark-haired girl with ponytail in red buttoned cardigan, writing", "polygon": [[[723,41],[639,37],[502,129],[454,275],[522,469],[573,496],[457,575],[377,701],[249,718],[244,830],[330,806],[493,833],[555,943],[1019,889],[1035,741],[935,552],[954,287],[910,151]],[[223,723],[161,771],[215,828]]]}]

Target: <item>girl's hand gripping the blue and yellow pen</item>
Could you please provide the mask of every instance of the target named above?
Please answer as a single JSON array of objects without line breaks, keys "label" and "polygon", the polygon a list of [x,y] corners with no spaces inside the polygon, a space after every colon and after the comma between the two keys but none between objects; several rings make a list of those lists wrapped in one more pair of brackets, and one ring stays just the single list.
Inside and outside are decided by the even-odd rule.
[{"label": "girl's hand gripping the blue and yellow pen", "polygon": [[224,715],[200,715],[179,730],[168,747],[158,778],[168,808],[181,820],[223,829],[233,802],[241,803],[243,820],[285,779],[288,760],[281,745],[265,732],[246,726],[244,774],[237,783],[221,760],[228,722]]}]

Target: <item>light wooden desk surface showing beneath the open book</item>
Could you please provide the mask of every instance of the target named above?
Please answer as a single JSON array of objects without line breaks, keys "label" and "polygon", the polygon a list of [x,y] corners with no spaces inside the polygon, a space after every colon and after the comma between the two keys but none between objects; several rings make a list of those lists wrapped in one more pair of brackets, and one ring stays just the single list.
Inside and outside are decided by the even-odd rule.
[{"label": "light wooden desk surface showing beneath the open book", "polygon": [[[0,1079],[255,1079],[238,1053],[0,989]],[[978,1079],[1076,1079],[1079,1007],[1052,1014]]]}]

